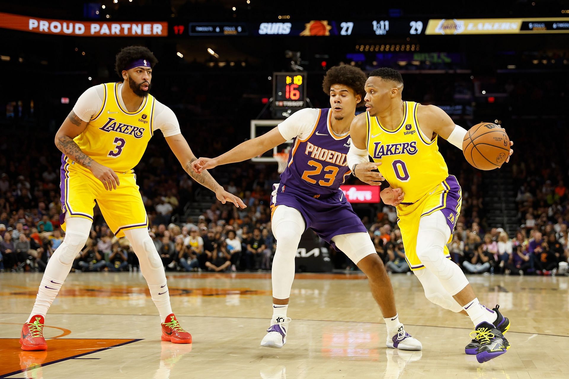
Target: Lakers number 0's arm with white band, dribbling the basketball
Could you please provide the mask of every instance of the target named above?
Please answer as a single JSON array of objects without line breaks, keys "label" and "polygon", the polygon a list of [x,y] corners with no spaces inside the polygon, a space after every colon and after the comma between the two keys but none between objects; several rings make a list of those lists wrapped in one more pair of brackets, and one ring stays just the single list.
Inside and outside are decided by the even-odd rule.
[{"label": "Lakers number 0's arm with white band, dribbling the basketball", "polygon": [[[419,121],[419,125],[421,125],[420,129],[424,134],[430,136],[433,133],[436,133],[462,150],[462,144],[464,136],[467,134],[467,130],[456,125],[451,117],[438,106],[419,105],[419,109],[417,110],[417,119]],[[510,141],[510,147],[513,145],[514,142]],[[509,156],[513,153],[513,149],[510,148]],[[509,156],[506,158],[506,163],[510,161]]]}]

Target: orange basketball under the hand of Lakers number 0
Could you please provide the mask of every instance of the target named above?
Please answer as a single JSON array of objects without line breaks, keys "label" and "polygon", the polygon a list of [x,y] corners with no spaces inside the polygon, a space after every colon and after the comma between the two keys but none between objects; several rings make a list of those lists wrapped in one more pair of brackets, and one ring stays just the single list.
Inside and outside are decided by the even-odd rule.
[{"label": "orange basketball under the hand of Lakers number 0", "polygon": [[470,128],[463,140],[464,157],[481,170],[493,170],[506,161],[510,139],[501,126],[483,122]]}]

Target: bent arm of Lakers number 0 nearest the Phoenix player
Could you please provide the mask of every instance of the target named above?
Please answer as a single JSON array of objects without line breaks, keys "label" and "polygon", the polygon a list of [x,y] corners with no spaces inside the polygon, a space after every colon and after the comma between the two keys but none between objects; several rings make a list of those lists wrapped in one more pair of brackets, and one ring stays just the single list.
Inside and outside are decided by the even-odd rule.
[{"label": "bent arm of Lakers number 0 nearest the Phoenix player", "polygon": [[354,117],[350,125],[350,138],[352,143],[348,151],[348,166],[352,170],[353,175],[362,182],[372,186],[381,185],[381,181],[385,180],[385,178],[381,173],[373,171],[381,163],[369,161],[368,147],[366,146],[368,124],[365,113]]}]

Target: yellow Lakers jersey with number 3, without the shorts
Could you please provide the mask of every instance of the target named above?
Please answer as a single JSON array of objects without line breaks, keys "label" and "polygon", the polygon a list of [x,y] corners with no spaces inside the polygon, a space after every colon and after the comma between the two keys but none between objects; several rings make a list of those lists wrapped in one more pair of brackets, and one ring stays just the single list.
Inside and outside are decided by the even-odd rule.
[{"label": "yellow Lakers jersey with number 3, without the shorts", "polygon": [[118,83],[101,85],[105,97],[100,111],[73,140],[98,163],[127,172],[141,160],[152,137],[154,97],[147,95],[137,111],[129,112],[118,101]]}]

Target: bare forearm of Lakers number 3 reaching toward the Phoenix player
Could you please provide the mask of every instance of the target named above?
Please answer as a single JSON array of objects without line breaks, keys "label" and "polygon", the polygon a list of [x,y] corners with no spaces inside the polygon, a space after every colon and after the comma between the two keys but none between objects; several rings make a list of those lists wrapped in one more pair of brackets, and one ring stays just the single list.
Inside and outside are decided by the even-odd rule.
[{"label": "bare forearm of Lakers number 3 reaching toward the Phoenix player", "polygon": [[225,204],[225,202],[230,201],[238,208],[246,207],[240,198],[224,190],[209,172],[204,170],[201,174],[197,174],[192,170],[192,163],[197,160],[197,158],[193,155],[192,149],[189,148],[188,142],[182,134],[166,137],[166,142],[176,158],[178,158],[180,164],[182,164],[185,172],[187,172],[193,180],[215,192],[217,199],[221,201],[221,203]]}]

